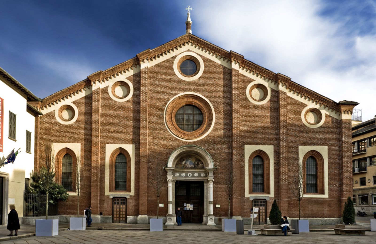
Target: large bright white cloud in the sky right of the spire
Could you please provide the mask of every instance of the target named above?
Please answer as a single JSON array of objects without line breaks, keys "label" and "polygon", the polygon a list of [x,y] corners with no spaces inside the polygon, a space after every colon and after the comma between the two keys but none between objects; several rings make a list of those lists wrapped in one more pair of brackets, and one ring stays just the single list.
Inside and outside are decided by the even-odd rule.
[{"label": "large bright white cloud in the sky right of the spire", "polygon": [[[335,101],[376,115],[376,36],[344,33],[318,1],[196,2],[193,34]],[[352,16],[349,16],[352,18]],[[342,31],[342,32],[341,32]]]}]

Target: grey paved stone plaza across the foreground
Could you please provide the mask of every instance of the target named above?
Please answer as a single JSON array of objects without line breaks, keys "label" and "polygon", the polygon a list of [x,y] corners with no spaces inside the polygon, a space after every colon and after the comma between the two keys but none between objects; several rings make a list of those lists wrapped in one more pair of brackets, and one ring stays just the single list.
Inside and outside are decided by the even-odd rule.
[{"label": "grey paved stone plaza across the foreground", "polygon": [[[246,233],[246,232],[245,232]],[[221,231],[132,231],[132,230],[84,230],[62,231],[58,236],[32,236],[2,244],[13,243],[375,243],[376,232],[365,236],[341,236],[334,232],[310,232],[288,236],[248,236]]]}]

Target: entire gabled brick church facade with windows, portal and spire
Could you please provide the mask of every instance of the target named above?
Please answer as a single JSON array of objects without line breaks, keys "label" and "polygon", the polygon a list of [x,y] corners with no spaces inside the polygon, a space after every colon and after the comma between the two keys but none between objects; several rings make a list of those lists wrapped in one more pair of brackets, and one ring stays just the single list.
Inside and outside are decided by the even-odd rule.
[{"label": "entire gabled brick church facade with windows, portal and spire", "polygon": [[265,223],[274,199],[297,217],[299,167],[301,216],[340,218],[352,196],[357,103],[334,102],[217,47],[190,24],[185,35],[32,104],[43,114],[35,170],[52,146],[56,180],[70,194],[59,215],[77,213],[79,162],[80,206],[92,207],[94,223],[148,223],[159,208],[176,224],[180,207],[183,223],[214,225],[228,212],[249,218],[253,206]]}]

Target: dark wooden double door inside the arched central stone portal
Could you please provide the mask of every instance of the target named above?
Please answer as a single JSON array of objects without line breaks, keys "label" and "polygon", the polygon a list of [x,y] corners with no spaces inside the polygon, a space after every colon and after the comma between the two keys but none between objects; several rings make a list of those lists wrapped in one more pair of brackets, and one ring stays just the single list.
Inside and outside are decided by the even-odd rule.
[{"label": "dark wooden double door inside the arched central stone portal", "polygon": [[[186,204],[192,206],[192,210],[184,209]],[[181,181],[175,183],[175,211],[182,211],[182,223],[202,223],[204,214],[204,182]]]}]

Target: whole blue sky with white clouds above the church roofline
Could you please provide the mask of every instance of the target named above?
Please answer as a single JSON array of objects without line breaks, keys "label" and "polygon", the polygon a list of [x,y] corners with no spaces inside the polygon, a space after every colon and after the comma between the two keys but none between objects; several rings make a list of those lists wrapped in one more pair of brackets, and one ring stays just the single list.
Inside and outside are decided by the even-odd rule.
[{"label": "whole blue sky with white clouds above the church roofline", "polygon": [[0,66],[43,98],[185,33],[376,115],[376,0],[2,0]]}]

